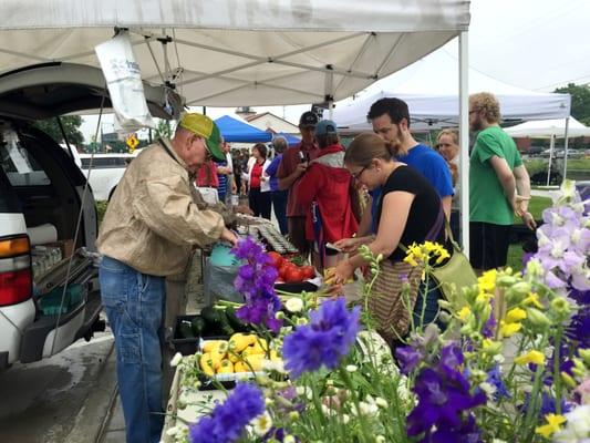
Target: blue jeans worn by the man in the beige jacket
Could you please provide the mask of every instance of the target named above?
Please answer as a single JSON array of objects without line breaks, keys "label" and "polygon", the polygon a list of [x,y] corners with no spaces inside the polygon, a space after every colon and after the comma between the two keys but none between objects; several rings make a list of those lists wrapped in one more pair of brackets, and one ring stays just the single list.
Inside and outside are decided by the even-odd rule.
[{"label": "blue jeans worn by the man in the beige jacket", "polygon": [[164,425],[161,346],[165,278],[142,274],[106,256],[99,278],[103,308],[115,336],[127,443],[157,443]]}]

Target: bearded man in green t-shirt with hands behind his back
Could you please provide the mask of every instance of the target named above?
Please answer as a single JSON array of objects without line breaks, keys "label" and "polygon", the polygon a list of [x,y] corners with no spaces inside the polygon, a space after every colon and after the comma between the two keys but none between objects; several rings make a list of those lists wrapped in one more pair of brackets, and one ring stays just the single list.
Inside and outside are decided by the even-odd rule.
[{"label": "bearded man in green t-shirt with hands behind his back", "polygon": [[469,243],[472,266],[506,266],[514,214],[535,228],[528,212],[530,181],[515,142],[499,126],[493,94],[469,96],[469,127],[479,131],[469,157]]}]

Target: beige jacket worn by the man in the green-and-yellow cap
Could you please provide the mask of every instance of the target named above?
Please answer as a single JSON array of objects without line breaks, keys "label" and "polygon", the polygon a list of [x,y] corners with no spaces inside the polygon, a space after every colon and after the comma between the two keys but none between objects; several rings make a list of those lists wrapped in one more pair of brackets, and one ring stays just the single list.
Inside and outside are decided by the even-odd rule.
[{"label": "beige jacket worn by the man in the green-and-yellow cap", "polygon": [[221,236],[224,218],[199,210],[186,164],[164,141],[146,147],[127,166],[108,203],[99,251],[153,276],[185,270],[193,246]]}]

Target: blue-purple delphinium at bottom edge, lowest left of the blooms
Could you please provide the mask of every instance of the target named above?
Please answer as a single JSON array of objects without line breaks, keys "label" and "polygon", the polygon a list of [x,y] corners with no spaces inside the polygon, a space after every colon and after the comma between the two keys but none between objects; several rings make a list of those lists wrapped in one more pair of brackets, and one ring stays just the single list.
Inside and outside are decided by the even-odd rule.
[{"label": "blue-purple delphinium at bottom edge, lowest left of the blooms", "polygon": [[252,384],[239,383],[225,403],[215,406],[210,416],[190,426],[190,443],[235,442],[246,425],[262,412],[262,392]]}]

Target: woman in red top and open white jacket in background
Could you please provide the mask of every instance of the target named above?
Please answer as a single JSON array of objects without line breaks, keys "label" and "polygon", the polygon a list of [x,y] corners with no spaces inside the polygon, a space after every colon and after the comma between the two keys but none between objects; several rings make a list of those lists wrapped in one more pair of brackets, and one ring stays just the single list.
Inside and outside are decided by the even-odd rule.
[{"label": "woman in red top and open white jacket in background", "polygon": [[268,176],[265,176],[270,161],[267,159],[267,146],[262,143],[257,143],[252,147],[253,162],[248,164],[248,174],[244,178],[250,185],[248,193],[248,203],[250,209],[256,217],[263,217],[270,220],[270,209],[272,205],[270,182]]}]

